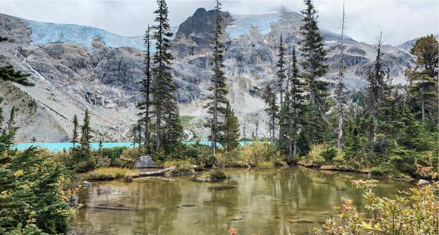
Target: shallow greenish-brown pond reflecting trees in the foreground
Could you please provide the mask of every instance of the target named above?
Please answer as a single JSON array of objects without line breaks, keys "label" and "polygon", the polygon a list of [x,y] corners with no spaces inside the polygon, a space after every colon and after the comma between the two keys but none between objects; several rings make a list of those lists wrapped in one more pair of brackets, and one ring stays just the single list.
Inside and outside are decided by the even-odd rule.
[{"label": "shallow greenish-brown pond reflecting trees in the foreground", "polygon": [[[298,219],[295,234],[308,234],[333,214],[340,197],[361,206],[361,191],[351,181],[364,175],[296,166],[225,172],[228,179],[217,183],[196,183],[191,177],[93,182],[80,192],[85,208],[72,220],[72,233],[227,235],[235,227],[239,235],[280,234],[287,219]],[[394,197],[411,187],[380,181],[376,192]]]}]

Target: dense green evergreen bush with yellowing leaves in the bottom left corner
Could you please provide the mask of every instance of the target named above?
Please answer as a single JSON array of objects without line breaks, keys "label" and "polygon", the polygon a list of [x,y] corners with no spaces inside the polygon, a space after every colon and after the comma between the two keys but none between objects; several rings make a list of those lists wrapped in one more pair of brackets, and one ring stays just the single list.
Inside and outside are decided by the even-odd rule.
[{"label": "dense green evergreen bush with yellowing leaves in the bottom left corner", "polygon": [[1,155],[0,234],[67,232],[75,214],[71,179],[71,172],[36,148]]}]

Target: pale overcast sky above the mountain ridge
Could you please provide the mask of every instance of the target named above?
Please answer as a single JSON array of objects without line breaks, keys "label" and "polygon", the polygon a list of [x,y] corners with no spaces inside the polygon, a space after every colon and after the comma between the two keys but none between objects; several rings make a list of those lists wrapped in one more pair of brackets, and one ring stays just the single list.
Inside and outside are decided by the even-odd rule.
[{"label": "pale overcast sky above the mountain ridge", "polygon": [[[169,21],[179,25],[197,8],[213,8],[213,0],[167,1]],[[375,43],[383,31],[385,43],[398,45],[426,34],[438,34],[439,1],[345,0],[346,34],[357,41]],[[222,1],[223,10],[231,14],[260,14],[286,9],[300,12],[302,1],[241,0]],[[319,26],[339,32],[342,1],[316,0]],[[5,1],[0,12],[34,21],[73,23],[99,27],[123,36],[143,34],[153,22],[156,1]]]}]

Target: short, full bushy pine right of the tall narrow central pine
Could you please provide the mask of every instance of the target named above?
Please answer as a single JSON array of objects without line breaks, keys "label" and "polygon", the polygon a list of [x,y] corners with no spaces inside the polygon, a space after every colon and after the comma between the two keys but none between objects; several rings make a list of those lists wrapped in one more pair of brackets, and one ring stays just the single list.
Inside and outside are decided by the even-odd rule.
[{"label": "short, full bushy pine right of the tall narrow central pine", "polygon": [[226,148],[228,152],[237,148],[239,145],[239,122],[235,112],[230,108],[230,104],[226,106],[226,117],[222,125],[222,134],[219,135],[219,142]]}]

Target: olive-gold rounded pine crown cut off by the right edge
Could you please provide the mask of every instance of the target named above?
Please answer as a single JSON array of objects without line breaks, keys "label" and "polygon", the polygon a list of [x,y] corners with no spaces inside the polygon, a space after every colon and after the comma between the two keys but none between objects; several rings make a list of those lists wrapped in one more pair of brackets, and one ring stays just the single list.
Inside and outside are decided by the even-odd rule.
[{"label": "olive-gold rounded pine crown cut off by the right edge", "polygon": [[405,73],[410,82],[410,96],[420,104],[423,123],[431,120],[437,124],[438,120],[438,47],[433,34],[419,38],[410,50],[415,67]]}]

